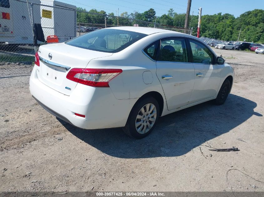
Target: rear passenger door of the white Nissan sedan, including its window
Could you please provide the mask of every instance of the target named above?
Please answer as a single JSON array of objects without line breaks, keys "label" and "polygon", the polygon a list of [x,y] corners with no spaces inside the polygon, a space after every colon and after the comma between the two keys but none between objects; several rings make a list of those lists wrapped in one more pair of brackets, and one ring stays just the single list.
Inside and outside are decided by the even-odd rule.
[{"label": "rear passenger door of the white Nissan sedan, including its window", "polygon": [[161,82],[168,110],[188,105],[192,94],[194,67],[188,59],[186,41],[177,37],[161,40],[156,62],[157,77]]}]

